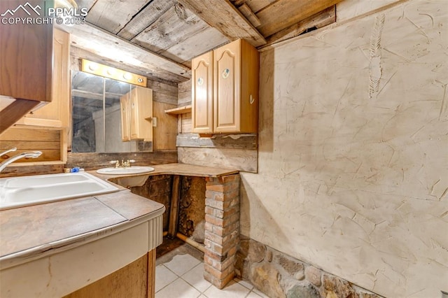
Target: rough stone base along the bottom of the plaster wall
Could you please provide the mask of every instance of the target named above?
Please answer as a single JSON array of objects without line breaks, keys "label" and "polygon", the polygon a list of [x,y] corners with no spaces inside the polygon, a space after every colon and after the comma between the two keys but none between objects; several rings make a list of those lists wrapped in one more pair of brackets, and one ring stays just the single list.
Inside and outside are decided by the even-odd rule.
[{"label": "rough stone base along the bottom of the plaster wall", "polygon": [[379,298],[342,278],[241,237],[235,271],[272,298]]}]

